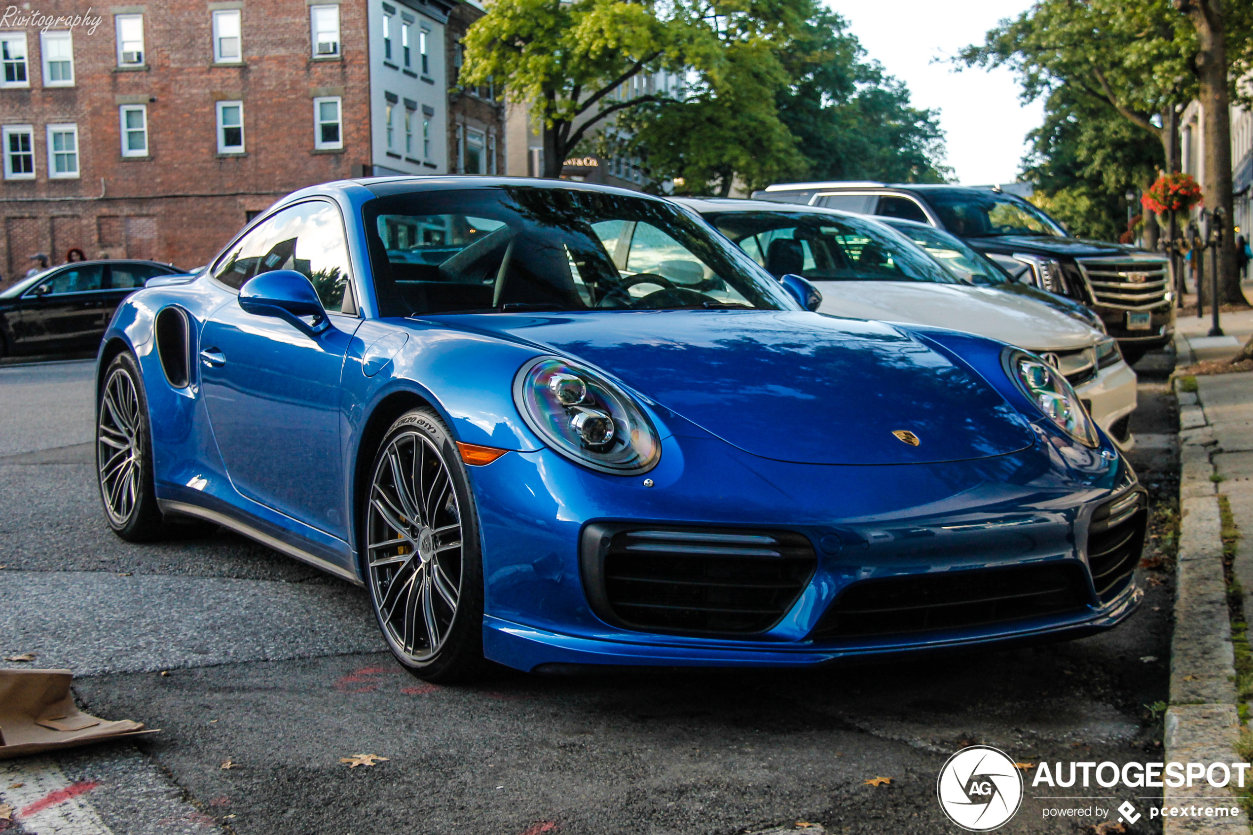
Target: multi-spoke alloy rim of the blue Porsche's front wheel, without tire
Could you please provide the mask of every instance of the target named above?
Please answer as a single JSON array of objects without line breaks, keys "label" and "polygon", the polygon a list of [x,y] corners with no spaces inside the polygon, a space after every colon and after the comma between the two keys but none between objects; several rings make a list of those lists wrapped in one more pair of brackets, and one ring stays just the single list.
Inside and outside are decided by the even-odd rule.
[{"label": "multi-spoke alloy rim of the blue Porsche's front wheel, without tire", "polygon": [[417,432],[395,436],[370,484],[367,568],[388,641],[413,662],[432,658],[461,597],[461,512],[447,464]]}]

